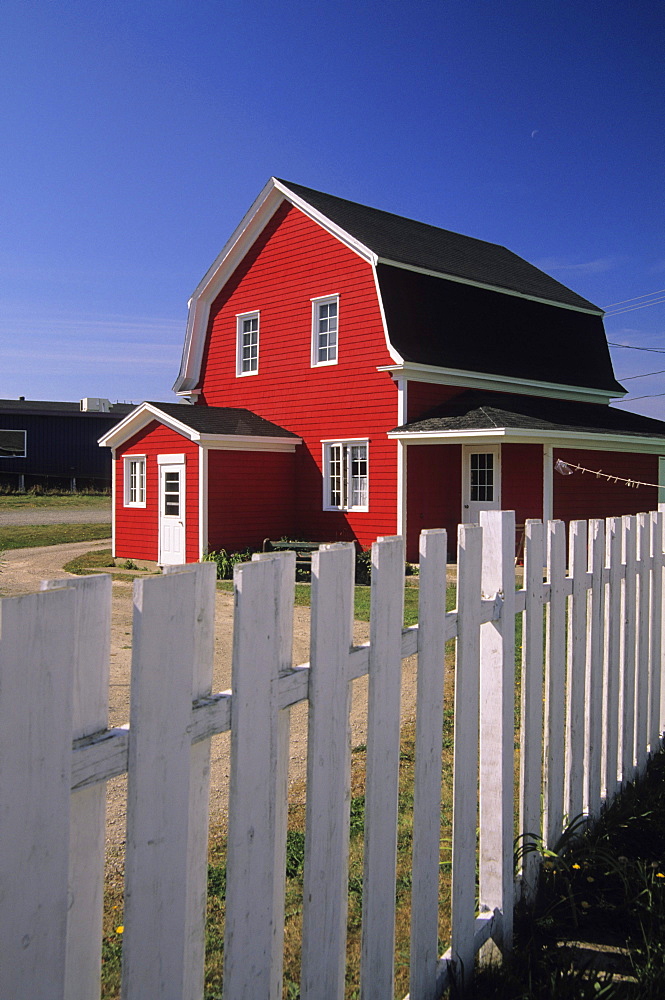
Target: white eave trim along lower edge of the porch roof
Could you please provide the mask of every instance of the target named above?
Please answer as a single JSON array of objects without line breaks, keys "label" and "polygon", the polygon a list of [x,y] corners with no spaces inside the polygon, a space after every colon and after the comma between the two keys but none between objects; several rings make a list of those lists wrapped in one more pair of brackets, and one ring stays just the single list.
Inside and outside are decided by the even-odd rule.
[{"label": "white eave trim along lower edge of the porch roof", "polygon": [[406,444],[548,444],[555,448],[589,451],[637,451],[662,455],[665,436],[642,437],[593,431],[546,431],[536,428],[494,427],[455,431],[389,431],[388,437]]}]

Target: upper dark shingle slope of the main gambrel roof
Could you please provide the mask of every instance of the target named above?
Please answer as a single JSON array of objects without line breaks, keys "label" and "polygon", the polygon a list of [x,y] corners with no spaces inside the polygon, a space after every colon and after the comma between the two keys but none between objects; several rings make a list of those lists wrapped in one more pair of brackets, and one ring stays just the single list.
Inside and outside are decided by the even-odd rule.
[{"label": "upper dark shingle slope of the main gambrel roof", "polygon": [[506,247],[281,180],[385,261],[581,309],[601,310]]}]

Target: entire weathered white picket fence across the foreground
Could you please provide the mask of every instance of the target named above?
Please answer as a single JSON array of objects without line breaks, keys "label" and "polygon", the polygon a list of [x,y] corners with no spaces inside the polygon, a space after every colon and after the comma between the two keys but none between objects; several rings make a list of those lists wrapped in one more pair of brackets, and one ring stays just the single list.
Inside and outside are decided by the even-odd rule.
[{"label": "entire weathered white picket fence across the foreground", "polygon": [[[411,1000],[434,1000],[492,938],[509,948],[522,834],[552,845],[596,815],[663,722],[663,515],[459,528],[457,609],[445,531],[421,536],[419,624],[403,628],[404,550],[373,546],[370,641],[353,646],[353,546],[314,555],[310,662],[293,667],[294,556],[237,567],[232,692],[213,694],[214,566],[134,587],[129,726],[107,729],[108,577],[0,602],[0,997],[100,992],[105,782],[128,772],[122,995],[203,995],[210,739],[231,731],[224,996],[282,995],[289,709],[309,700],[302,1000],[344,994],[351,682],[368,675],[363,1000],[394,995],[400,684],[418,653]],[[543,565],[546,563],[545,576]],[[515,616],[523,615],[514,788]],[[457,639],[452,940],[438,947],[444,645]],[[73,743],[72,743],[73,734]],[[479,843],[477,830],[480,829]],[[476,866],[479,863],[479,886]],[[479,902],[478,902],[479,900]]]}]

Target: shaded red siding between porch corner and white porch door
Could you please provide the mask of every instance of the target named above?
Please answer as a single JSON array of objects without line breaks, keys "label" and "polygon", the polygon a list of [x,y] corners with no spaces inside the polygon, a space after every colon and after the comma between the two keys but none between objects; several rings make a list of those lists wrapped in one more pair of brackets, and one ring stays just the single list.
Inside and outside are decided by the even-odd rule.
[{"label": "shaded red siding between porch corner and white porch door", "polygon": [[461,445],[411,445],[406,451],[406,558],[418,562],[418,537],[424,528],[446,528],[452,554],[462,507]]}]

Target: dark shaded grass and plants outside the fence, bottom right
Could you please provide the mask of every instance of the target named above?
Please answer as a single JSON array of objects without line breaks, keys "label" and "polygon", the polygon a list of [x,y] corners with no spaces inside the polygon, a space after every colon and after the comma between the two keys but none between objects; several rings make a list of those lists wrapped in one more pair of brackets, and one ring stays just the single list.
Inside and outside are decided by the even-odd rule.
[{"label": "dark shaded grass and plants outside the fence, bottom right", "polygon": [[664,818],[661,752],[595,825],[572,824],[545,855],[535,906],[517,915],[510,959],[480,972],[468,996],[662,1000]]}]

